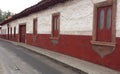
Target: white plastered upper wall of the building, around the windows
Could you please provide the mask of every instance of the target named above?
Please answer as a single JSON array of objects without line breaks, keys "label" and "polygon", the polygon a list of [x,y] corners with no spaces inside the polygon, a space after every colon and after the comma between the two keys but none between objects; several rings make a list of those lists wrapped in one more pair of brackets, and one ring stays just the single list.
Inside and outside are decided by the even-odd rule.
[{"label": "white plastered upper wall of the building, around the windows", "polygon": [[[25,18],[17,19],[10,24],[16,33],[21,23],[26,23],[27,33],[33,33],[33,19],[38,18],[38,33],[51,34],[52,14],[60,12],[60,34],[67,35],[92,35],[93,5],[105,0],[71,0],[67,3],[58,4],[49,9],[31,14]],[[117,5],[117,37],[120,37],[120,0]]]}]

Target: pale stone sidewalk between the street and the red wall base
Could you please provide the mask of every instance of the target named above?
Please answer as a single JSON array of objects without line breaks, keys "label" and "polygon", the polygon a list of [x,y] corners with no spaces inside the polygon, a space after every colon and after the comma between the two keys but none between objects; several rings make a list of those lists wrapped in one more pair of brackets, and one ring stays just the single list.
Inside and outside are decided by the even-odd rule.
[{"label": "pale stone sidewalk between the street and the red wall base", "polygon": [[[8,40],[6,40],[6,41],[8,41]],[[39,54],[45,55],[49,58],[52,58],[56,61],[66,64],[66,65],[69,65],[73,68],[82,70],[88,74],[120,74],[120,72],[118,72],[116,70],[112,70],[110,68],[103,67],[101,65],[90,63],[90,62],[87,62],[84,60],[80,60],[80,59],[70,57],[70,56],[67,56],[64,54],[53,52],[53,51],[50,51],[47,49],[42,49],[42,48],[34,47],[31,45],[23,44],[23,43],[13,42],[13,41],[8,41],[8,42],[11,42],[15,45],[23,46],[25,48],[28,48],[29,50],[32,50]]]}]

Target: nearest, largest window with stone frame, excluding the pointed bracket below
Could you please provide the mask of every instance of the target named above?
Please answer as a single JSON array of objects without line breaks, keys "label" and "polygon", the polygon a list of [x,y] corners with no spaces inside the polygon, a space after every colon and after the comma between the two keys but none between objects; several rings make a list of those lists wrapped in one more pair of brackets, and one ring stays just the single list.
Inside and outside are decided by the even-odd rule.
[{"label": "nearest, largest window with stone frame, excluding the pointed bracket below", "polygon": [[108,0],[94,5],[92,43],[115,44],[116,0]]}]

